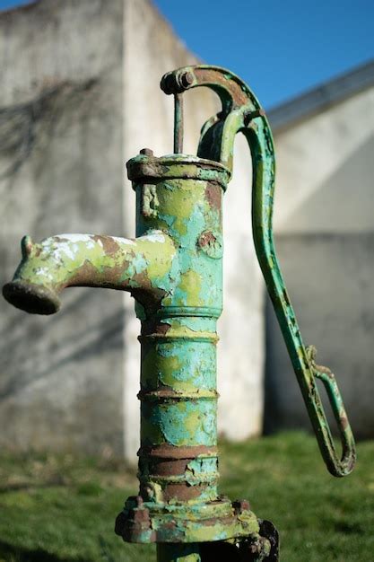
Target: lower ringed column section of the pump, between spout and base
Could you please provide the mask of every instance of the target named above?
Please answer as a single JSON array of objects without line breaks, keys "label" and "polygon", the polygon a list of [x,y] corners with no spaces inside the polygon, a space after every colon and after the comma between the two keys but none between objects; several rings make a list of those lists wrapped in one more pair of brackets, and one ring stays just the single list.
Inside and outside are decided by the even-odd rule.
[{"label": "lower ringed column section of the pump, between spout and base", "polygon": [[217,499],[216,322],[180,312],[140,337],[140,494],[159,505]]}]

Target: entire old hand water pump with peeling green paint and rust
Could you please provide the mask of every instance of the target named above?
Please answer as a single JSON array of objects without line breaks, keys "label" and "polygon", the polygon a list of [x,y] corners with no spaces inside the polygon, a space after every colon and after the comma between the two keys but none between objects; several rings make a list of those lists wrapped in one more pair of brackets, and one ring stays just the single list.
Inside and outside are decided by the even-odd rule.
[{"label": "entire old hand water pump with peeling green paint and rust", "polygon": [[[202,128],[197,156],[182,154],[182,93],[207,86],[222,110]],[[174,154],[144,149],[127,162],[136,192],[136,238],[61,234],[22,240],[22,262],[4,297],[27,312],[51,314],[66,286],[129,291],[142,322],[141,447],[138,496],[129,497],[116,532],[156,542],[159,561],[278,560],[277,532],[248,502],[218,495],[216,321],[222,312],[222,196],[234,138],[246,136],[253,163],[252,226],[257,258],[327,469],[348,474],[354,441],[334,375],[304,347],[274,250],[274,147],[256,97],[215,66],[164,75],[175,97]],[[339,428],[335,444],[317,391],[323,382]],[[217,550],[218,548],[218,550]],[[217,558],[218,559],[218,558]]]}]

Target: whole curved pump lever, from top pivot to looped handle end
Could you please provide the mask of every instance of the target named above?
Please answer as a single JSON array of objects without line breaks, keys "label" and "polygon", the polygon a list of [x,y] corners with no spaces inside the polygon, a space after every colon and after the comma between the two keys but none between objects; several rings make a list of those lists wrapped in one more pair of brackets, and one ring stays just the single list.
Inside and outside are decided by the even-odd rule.
[{"label": "whole curved pump lever, from top pivot to looped handle end", "polygon": [[[275,253],[273,239],[274,201],[274,145],[271,130],[255,95],[238,76],[217,66],[186,66],[163,76],[161,89],[173,93],[176,100],[174,150],[181,152],[183,137],[183,110],[181,94],[197,86],[207,86],[222,101],[222,111],[206,121],[201,131],[197,155],[221,162],[232,169],[234,137],[241,132],[246,136],[252,157],[252,229],[261,270],[268,293],[282,329],[294,372],[308,409],[319,449],[327,469],[337,477],[349,474],[356,459],[351,426],[335,376],[326,367],[315,363],[315,347],[305,347],[298,322],[284,285]],[[178,150],[179,149],[179,150]],[[326,413],[317,390],[316,379],[326,388],[342,442],[339,459],[328,426]]]}]

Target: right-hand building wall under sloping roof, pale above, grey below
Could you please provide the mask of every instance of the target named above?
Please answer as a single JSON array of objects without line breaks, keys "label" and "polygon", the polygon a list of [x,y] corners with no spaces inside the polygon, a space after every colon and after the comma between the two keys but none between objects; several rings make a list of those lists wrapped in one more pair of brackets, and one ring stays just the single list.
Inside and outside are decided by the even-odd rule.
[{"label": "right-hand building wall under sloping roof, pale above, grey below", "polygon": [[[358,436],[374,431],[373,111],[371,88],[275,135],[276,249],[304,341],[335,373]],[[266,426],[309,426],[270,309]]]}]

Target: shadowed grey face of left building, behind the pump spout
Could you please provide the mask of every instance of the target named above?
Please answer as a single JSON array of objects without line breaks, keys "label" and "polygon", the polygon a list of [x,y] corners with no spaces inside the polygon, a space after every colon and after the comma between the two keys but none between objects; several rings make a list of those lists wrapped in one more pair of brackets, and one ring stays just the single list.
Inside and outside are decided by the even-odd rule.
[{"label": "shadowed grey face of left building, behind the pump spout", "polygon": [[[26,233],[122,233],[122,4],[105,4],[44,1],[0,17],[3,282]],[[1,446],[120,452],[122,295],[62,299],[51,317],[0,299]]]}]

